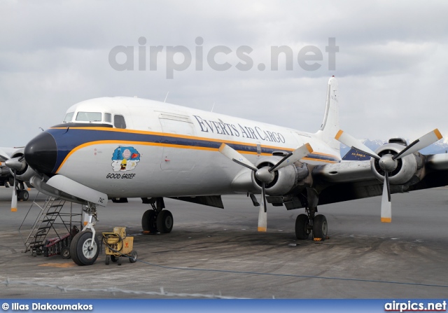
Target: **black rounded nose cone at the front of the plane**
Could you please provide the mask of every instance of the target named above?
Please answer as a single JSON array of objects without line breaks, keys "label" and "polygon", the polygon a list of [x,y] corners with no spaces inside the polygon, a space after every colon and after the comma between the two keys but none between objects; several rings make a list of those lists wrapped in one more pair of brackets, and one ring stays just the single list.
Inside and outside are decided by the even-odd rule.
[{"label": "black rounded nose cone at the front of the plane", "polygon": [[42,132],[25,146],[25,161],[34,171],[51,175],[57,160],[57,145],[48,132]]}]

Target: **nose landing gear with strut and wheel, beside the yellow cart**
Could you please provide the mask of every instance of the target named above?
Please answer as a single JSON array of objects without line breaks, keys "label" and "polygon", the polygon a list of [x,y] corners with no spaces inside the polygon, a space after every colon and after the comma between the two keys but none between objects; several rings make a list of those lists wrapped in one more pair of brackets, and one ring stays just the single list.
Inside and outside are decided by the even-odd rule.
[{"label": "nose landing gear with strut and wheel, beside the yellow cart", "polygon": [[71,259],[80,266],[92,265],[99,253],[99,242],[93,228],[98,221],[97,206],[87,202],[87,207],[83,211],[89,214],[87,225],[71,239],[70,243]]}]

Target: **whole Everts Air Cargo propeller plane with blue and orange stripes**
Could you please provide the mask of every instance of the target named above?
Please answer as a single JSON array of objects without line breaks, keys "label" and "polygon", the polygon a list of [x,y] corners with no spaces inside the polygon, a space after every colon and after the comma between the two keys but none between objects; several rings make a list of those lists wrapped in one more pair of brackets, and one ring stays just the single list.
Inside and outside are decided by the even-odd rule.
[{"label": "whole Everts Air Cargo propeller plane with blue and orange stripes", "polygon": [[[73,237],[70,253],[90,265],[99,253],[97,206],[108,199],[141,197],[151,209],[146,232],[170,232],[164,197],[223,208],[221,195],[245,193],[260,206],[258,230],[267,229],[266,202],[304,208],[297,239],[325,239],[318,205],[383,195],[381,221],[391,221],[391,193],[445,186],[448,158],[418,151],[441,139],[433,130],[407,145],[391,139],[376,152],[339,130],[337,81],[328,81],[325,116],[315,134],[252,120],[128,97],[91,99],[71,106],[64,123],[29,141],[22,170],[41,192],[85,204],[89,220]],[[370,155],[342,161],[339,142]],[[383,186],[381,186],[381,184]],[[254,194],[261,193],[261,205]]]}]

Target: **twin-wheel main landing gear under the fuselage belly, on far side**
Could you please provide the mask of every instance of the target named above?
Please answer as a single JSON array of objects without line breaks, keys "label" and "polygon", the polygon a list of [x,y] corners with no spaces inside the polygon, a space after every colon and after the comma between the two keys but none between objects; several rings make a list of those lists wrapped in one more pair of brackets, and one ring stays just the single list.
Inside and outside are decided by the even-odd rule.
[{"label": "twin-wheel main landing gear under the fuselage belly, on far side", "polygon": [[173,214],[164,210],[165,203],[162,197],[151,198],[148,201],[152,209],[148,209],[141,217],[141,228],[146,234],[171,232],[173,229]]}]

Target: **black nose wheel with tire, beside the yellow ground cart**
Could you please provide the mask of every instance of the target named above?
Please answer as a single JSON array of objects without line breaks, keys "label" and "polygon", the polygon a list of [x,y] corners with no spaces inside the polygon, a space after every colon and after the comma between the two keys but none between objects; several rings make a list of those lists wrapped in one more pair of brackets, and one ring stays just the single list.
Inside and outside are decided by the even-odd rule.
[{"label": "black nose wheel with tire, beside the yellow ground cart", "polygon": [[85,230],[84,232],[78,232],[73,237],[70,244],[71,259],[74,263],[83,265],[92,265],[98,258],[99,242],[98,238],[94,237],[92,244],[92,250],[90,250],[90,244],[92,243],[92,232]]}]

